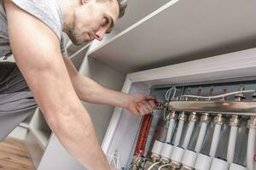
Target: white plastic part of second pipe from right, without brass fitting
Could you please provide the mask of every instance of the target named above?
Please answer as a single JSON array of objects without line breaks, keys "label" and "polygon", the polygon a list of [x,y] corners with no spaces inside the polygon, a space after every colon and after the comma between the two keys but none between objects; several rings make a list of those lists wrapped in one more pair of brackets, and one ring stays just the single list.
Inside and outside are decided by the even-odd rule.
[{"label": "white plastic part of second pipe from right, without brass fitting", "polygon": [[230,128],[230,139],[228,145],[227,161],[233,163],[236,149],[236,138],[237,138],[238,127],[231,126]]}]

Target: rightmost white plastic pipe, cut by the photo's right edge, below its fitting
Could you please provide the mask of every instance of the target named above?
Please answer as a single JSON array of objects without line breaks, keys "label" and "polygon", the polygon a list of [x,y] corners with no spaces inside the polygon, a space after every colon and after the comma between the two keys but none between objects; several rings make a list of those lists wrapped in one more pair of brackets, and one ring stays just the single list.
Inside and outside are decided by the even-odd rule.
[{"label": "rightmost white plastic pipe, cut by the photo's right edge, below its fitting", "polygon": [[253,156],[256,152],[256,129],[250,128],[248,134],[247,144],[247,168],[249,170],[255,170],[255,162]]}]

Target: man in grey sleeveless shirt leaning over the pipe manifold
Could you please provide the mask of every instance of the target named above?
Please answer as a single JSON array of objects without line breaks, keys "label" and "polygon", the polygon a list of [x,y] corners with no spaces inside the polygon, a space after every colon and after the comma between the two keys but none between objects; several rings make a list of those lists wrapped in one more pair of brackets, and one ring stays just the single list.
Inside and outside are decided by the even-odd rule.
[{"label": "man in grey sleeveless shirt leaning over the pipe manifold", "polygon": [[[7,113],[0,107],[0,120],[1,114],[2,117],[11,115],[6,120],[22,115],[15,113],[33,108],[35,99],[61,144],[84,167],[93,170],[111,169],[96,140],[90,116],[79,99],[119,106],[136,116],[151,113],[155,108],[155,99],[103,88],[90,78],[79,75],[65,53],[61,31],[65,31],[75,44],[102,40],[119,16],[124,14],[125,6],[119,0],[0,2],[3,7],[0,8],[0,54],[14,54],[19,68],[3,64],[0,99],[6,105],[4,109]],[[17,101],[18,109],[9,107],[9,103],[15,105]],[[17,120],[21,121],[21,118]]]}]

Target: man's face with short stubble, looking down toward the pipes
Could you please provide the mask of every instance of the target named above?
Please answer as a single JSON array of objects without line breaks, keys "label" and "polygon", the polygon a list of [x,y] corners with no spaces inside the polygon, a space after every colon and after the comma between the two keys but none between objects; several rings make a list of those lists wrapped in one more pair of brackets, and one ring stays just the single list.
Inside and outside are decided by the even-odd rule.
[{"label": "man's face with short stubble, looking down toward the pipes", "polygon": [[109,33],[119,16],[119,4],[116,0],[82,0],[82,5],[75,10],[73,25],[67,32],[76,45],[102,40]]}]

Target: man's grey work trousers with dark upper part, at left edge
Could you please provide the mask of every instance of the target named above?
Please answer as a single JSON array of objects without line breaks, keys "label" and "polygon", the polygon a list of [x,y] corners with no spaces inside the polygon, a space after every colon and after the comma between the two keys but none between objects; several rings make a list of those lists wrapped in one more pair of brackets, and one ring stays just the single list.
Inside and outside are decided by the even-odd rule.
[{"label": "man's grey work trousers with dark upper part, at left edge", "polygon": [[36,107],[17,65],[0,62],[0,142]]}]

